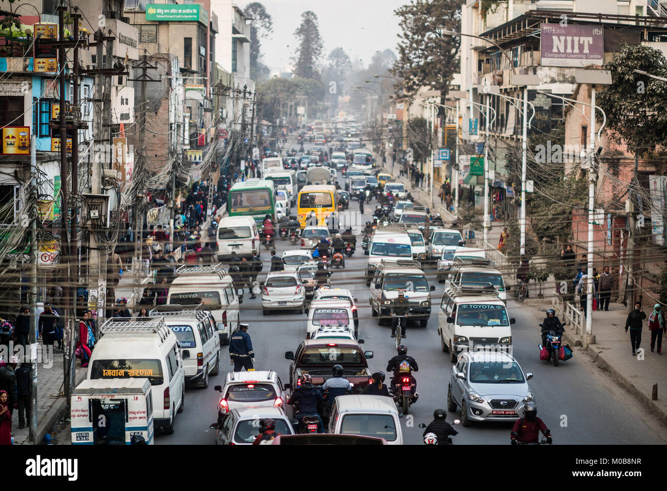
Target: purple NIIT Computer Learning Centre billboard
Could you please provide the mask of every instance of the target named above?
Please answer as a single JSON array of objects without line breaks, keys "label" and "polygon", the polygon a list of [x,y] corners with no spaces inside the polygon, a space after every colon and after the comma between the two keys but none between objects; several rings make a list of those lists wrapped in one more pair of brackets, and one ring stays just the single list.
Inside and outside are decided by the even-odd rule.
[{"label": "purple NIIT Computer Learning Centre billboard", "polygon": [[604,29],[594,25],[542,24],[543,67],[602,65]]}]

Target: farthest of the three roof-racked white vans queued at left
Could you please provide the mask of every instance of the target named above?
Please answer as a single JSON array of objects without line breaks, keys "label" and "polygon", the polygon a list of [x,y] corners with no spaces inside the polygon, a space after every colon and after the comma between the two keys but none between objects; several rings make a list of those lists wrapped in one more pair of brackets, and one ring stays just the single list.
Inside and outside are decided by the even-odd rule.
[{"label": "farthest of the three roof-racked white vans queued at left", "polygon": [[239,328],[239,304],[243,300],[231,276],[219,264],[196,268],[181,266],[176,272],[178,276],[169,287],[167,304],[203,304],[203,308],[213,314],[220,342],[229,344],[231,334]]}]

